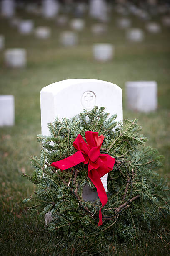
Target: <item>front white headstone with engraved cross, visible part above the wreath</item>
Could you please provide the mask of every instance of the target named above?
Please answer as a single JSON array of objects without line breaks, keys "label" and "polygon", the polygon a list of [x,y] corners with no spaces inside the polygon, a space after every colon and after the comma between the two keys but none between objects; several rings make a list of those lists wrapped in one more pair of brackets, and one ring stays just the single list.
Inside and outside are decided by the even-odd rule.
[{"label": "front white headstone with engraved cross, visible part above the wreath", "polygon": [[41,129],[49,135],[47,124],[55,117],[72,118],[83,109],[106,107],[110,115],[122,121],[122,89],[116,84],[95,79],[68,79],[50,84],[41,90]]}]

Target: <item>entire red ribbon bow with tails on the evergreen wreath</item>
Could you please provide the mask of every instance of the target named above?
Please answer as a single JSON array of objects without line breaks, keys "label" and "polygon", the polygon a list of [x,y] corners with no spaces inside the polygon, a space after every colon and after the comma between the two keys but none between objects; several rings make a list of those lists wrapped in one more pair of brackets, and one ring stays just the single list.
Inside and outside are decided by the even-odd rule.
[{"label": "entire red ribbon bow with tails on the evergreen wreath", "polygon": [[[87,144],[85,143],[82,136],[79,134],[75,141],[72,143],[72,145],[78,151],[72,156],[52,163],[51,166],[54,166],[61,171],[64,171],[77,164],[80,164],[81,162],[83,162],[84,164],[89,163],[88,177],[91,179],[92,184],[95,185],[97,189],[97,194],[103,207],[105,206],[105,204],[107,204],[108,199],[100,178],[113,169],[113,166],[115,164],[115,158],[107,154],[100,153],[100,148],[105,138],[103,135],[98,136],[98,133],[96,132],[87,131],[85,132],[85,138]],[[101,209],[99,210],[98,226],[102,225]]]}]

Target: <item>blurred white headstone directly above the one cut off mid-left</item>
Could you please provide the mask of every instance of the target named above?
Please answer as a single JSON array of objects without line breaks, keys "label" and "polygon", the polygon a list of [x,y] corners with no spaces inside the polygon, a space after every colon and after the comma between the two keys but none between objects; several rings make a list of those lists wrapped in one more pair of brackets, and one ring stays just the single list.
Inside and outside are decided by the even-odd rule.
[{"label": "blurred white headstone directly above the one cut off mid-left", "polygon": [[23,48],[7,49],[4,57],[7,67],[25,67],[27,63],[27,52]]}]

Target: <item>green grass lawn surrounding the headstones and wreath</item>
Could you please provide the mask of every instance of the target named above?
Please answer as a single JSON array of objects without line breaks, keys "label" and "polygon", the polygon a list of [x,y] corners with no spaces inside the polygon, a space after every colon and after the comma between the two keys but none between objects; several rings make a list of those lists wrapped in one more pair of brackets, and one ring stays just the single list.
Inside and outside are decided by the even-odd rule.
[{"label": "green grass lawn surrounding the headstones and wreath", "polygon": [[[30,220],[21,201],[29,197],[35,186],[22,177],[32,173],[30,155],[40,155],[36,141],[40,133],[40,90],[63,79],[91,78],[113,82],[123,89],[124,118],[138,118],[148,144],[165,156],[160,175],[167,175],[170,185],[170,33],[163,28],[160,35],[146,32],[145,42],[130,44],[125,33],[115,26],[112,15],[107,35],[92,36],[92,20],[80,33],[80,44],[63,48],[58,42],[62,28],[54,21],[20,12],[23,18],[33,18],[35,25],[52,28],[52,37],[40,41],[34,36],[22,36],[8,21],[0,19],[0,33],[5,34],[6,48],[24,47],[28,51],[25,69],[7,69],[0,52],[0,94],[15,96],[15,125],[0,128],[0,254],[2,255],[168,255],[170,250],[170,221],[146,230],[136,241],[117,241],[110,246],[77,243],[57,237],[44,228],[43,220]],[[144,28],[143,21],[132,17],[133,26]],[[155,19],[160,20],[160,17]],[[66,26],[64,29],[68,29]],[[110,42],[115,45],[115,58],[109,63],[96,63],[92,58],[92,44]],[[133,113],[126,109],[124,84],[128,80],[156,80],[158,82],[158,110],[155,113]],[[102,103],[101,103],[102,104]]]}]

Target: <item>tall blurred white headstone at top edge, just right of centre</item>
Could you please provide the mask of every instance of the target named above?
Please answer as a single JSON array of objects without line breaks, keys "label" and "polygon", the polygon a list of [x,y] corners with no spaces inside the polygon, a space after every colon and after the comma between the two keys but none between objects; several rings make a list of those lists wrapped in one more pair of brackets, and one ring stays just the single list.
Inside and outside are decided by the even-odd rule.
[{"label": "tall blurred white headstone at top edge, just right of centre", "polygon": [[105,0],[90,0],[90,16],[102,21],[107,21],[108,9]]}]

